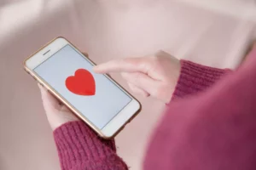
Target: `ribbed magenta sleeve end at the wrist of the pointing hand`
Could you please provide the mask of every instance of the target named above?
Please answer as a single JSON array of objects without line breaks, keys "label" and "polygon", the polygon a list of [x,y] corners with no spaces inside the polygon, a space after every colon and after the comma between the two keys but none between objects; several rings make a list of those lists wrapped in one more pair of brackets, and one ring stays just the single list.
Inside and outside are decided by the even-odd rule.
[{"label": "ribbed magenta sleeve end at the wrist of the pointing hand", "polygon": [[199,65],[182,59],[180,76],[172,94],[172,99],[201,92],[211,87],[227,72],[230,72],[230,70]]}]

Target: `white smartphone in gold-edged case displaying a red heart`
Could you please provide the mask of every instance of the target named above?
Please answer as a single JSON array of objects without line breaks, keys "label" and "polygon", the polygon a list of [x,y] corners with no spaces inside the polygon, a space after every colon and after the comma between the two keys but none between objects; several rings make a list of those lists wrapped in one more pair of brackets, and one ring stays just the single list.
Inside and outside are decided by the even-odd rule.
[{"label": "white smartphone in gold-edged case displaying a red heart", "polygon": [[103,139],[111,139],[131,122],[141,105],[64,37],[57,37],[24,61],[35,80],[79,116]]}]

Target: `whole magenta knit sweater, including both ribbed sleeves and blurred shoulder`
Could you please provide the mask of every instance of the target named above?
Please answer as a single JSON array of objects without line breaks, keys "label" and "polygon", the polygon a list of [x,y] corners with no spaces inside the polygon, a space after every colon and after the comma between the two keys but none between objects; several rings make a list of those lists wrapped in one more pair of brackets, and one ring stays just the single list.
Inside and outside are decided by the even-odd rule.
[{"label": "whole magenta knit sweater, including both ribbed sleeves and blurred shoulder", "polygon": [[[256,50],[251,56],[216,85],[227,71],[182,61],[173,101],[154,131],[143,169],[256,169]],[[114,141],[100,139],[83,122],[68,122],[54,136],[63,170],[128,169]]]}]

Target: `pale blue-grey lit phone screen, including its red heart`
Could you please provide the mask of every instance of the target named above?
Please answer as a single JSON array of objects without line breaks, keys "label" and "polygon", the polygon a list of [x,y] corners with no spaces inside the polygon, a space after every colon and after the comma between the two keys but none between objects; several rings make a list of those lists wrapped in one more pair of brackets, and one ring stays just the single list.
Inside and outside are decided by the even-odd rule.
[{"label": "pale blue-grey lit phone screen, including its red heart", "polygon": [[102,129],[131,102],[131,97],[92,68],[84,56],[66,45],[33,71]]}]

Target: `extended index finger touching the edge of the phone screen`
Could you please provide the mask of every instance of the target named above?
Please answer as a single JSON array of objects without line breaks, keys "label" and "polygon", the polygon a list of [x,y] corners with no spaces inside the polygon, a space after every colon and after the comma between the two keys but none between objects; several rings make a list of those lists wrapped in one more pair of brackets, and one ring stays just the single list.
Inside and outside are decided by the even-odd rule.
[{"label": "extended index finger touching the edge of the phone screen", "polygon": [[96,73],[108,72],[148,72],[147,60],[143,58],[126,58],[108,61],[107,63],[96,65],[93,68]]}]

